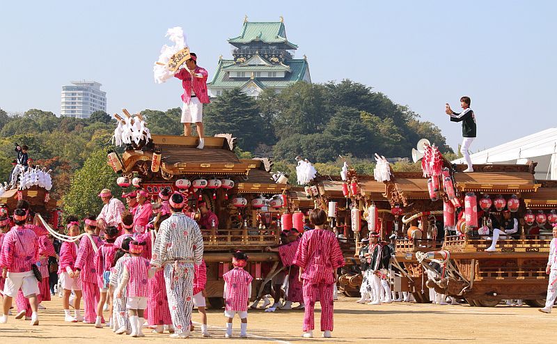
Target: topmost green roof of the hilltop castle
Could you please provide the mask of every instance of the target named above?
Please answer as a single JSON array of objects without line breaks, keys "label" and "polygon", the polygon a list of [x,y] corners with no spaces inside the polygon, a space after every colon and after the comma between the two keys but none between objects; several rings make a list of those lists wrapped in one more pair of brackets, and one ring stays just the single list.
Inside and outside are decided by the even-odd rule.
[{"label": "topmost green roof of the hilltop castle", "polygon": [[297,45],[288,42],[286,30],[283,22],[244,22],[242,34],[235,38],[230,38],[230,44],[242,44],[254,41],[265,43],[285,43],[292,49],[297,49]]}]

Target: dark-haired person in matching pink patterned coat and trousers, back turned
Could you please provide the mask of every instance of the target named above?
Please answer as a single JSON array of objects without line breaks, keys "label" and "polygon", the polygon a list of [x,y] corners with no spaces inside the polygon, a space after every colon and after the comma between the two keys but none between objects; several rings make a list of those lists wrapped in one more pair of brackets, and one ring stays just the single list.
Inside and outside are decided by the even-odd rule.
[{"label": "dark-haired person in matching pink patterned coat and trousers, back turned", "polygon": [[304,337],[313,337],[315,302],[321,304],[321,331],[328,338],[333,331],[333,292],[336,269],[345,265],[343,252],[331,230],[324,229],[327,214],[322,209],[313,210],[310,221],[315,229],[301,237],[294,264],[300,267],[299,280],[304,281]]}]

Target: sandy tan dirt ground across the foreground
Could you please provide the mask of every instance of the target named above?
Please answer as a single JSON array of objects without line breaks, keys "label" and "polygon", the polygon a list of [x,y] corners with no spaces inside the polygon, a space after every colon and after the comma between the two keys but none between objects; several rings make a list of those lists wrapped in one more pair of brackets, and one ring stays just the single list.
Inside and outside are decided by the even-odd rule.
[{"label": "sandy tan dirt ground across the foreground", "polygon": [[[63,322],[61,299],[53,297],[44,302],[46,310],[40,311],[40,326],[31,327],[29,321],[10,317],[8,324],[0,325],[0,344],[32,343],[163,343],[168,334],[151,334],[143,329],[145,338],[117,336],[108,328],[95,329],[93,325]],[[301,338],[303,311],[250,310],[248,316],[249,338],[240,339],[240,322],[235,319],[233,338],[225,339],[222,311],[208,311],[211,338],[203,338],[198,327],[189,341],[204,343],[540,343],[555,333],[557,310],[543,314],[530,306],[493,308],[436,306],[430,304],[383,304],[370,306],[356,304],[356,299],[341,297],[335,302],[334,338]],[[319,311],[316,312],[317,329]],[[194,322],[199,315],[194,311]],[[536,340],[535,338],[538,338]]]}]

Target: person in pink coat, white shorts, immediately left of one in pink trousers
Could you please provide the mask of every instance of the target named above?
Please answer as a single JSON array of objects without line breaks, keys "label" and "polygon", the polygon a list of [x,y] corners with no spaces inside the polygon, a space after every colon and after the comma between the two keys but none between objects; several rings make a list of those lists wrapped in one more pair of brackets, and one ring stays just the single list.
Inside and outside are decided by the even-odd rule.
[{"label": "person in pink coat, white shorts, immediately left of one in pink trousers", "polygon": [[[68,235],[77,237],[79,235],[79,221],[77,217],[68,217],[72,221],[68,222]],[[75,276],[75,260],[77,259],[78,245],[76,242],[63,242],[60,247],[60,264],[58,274],[62,281],[62,305],[64,307],[64,321],[78,322],[83,321],[79,306],[81,304],[81,279]],[[70,295],[74,292],[74,316],[70,313]]]}]

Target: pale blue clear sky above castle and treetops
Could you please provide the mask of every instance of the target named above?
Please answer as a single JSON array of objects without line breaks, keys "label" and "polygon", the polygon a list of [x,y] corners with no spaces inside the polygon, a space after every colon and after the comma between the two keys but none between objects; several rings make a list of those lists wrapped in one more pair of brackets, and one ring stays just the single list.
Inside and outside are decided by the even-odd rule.
[{"label": "pale blue clear sky above castle and treetops", "polygon": [[178,107],[179,82],[152,80],[166,29],[183,27],[211,77],[244,15],[282,15],[314,82],[372,86],[436,123],[453,148],[460,124],[444,104],[469,95],[476,151],[556,126],[556,13],[557,1],[3,2],[0,108],[59,114],[61,86],[75,79],[103,84],[111,114]]}]

